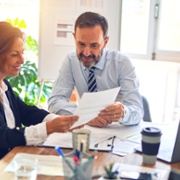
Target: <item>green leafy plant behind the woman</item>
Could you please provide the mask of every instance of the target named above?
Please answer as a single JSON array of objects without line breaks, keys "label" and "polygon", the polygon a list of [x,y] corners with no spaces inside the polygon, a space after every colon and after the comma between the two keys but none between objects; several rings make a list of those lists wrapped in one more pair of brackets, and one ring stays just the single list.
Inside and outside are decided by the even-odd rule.
[{"label": "green leafy plant behind the woman", "polygon": [[[24,20],[19,21],[19,19],[16,18],[14,21],[10,19],[7,19],[6,21],[18,28],[27,28]],[[26,37],[25,54],[26,53],[31,53],[35,57],[38,56],[38,44],[36,40],[33,39],[31,36]],[[40,82],[37,80],[38,62],[37,60],[35,61],[34,59],[31,59],[31,57],[25,57],[25,63],[21,66],[19,75],[16,77],[7,77],[7,80],[10,82],[16,95],[20,96],[25,103],[29,105],[35,105],[38,101],[38,95],[40,90]],[[51,92],[51,89],[51,83],[44,84],[40,99],[40,105],[46,102]]]}]

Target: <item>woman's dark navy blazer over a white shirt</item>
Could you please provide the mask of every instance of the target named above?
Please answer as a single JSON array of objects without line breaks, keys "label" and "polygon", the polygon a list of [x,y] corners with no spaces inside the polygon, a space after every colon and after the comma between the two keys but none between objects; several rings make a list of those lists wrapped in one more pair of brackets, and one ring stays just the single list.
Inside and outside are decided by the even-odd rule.
[{"label": "woman's dark navy blazer over a white shirt", "polygon": [[[14,113],[15,128],[10,129],[7,127],[3,105],[0,103],[0,159],[13,147],[26,145],[24,126],[41,123],[44,117],[49,114],[49,112],[36,106],[26,105],[13,93],[8,81],[4,80],[4,83],[8,86],[6,96]],[[22,124],[24,125],[23,127]]]}]

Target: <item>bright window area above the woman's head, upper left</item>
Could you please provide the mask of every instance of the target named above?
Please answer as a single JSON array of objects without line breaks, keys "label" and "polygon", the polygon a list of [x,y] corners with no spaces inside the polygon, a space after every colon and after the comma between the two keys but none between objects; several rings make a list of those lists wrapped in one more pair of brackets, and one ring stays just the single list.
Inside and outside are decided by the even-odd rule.
[{"label": "bright window area above the woman's head, upper left", "polygon": [[0,21],[6,21],[7,18],[25,20],[27,25],[26,33],[38,40],[38,0],[0,0]]}]

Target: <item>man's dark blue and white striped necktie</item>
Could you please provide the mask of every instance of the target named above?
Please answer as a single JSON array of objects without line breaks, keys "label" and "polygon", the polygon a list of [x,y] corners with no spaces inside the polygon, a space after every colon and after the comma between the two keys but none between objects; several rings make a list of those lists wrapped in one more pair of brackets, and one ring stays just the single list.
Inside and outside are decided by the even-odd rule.
[{"label": "man's dark blue and white striped necktie", "polygon": [[88,78],[88,92],[96,92],[97,91],[97,84],[96,84],[96,78],[94,75],[94,70],[96,67],[92,66],[89,69],[89,78]]}]

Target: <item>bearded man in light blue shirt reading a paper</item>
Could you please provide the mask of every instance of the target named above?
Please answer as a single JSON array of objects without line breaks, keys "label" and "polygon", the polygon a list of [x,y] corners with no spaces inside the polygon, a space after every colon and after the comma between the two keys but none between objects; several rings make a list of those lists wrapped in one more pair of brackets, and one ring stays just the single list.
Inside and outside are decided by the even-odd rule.
[{"label": "bearded man in light blue shirt reading a paper", "polygon": [[143,117],[143,107],[135,68],[125,55],[105,48],[109,41],[105,17],[85,12],[77,18],[74,30],[76,52],[67,55],[60,69],[48,100],[49,111],[73,114],[76,105],[69,103],[71,93],[74,87],[80,97],[88,92],[90,68],[95,66],[95,91],[118,86],[121,86],[121,90],[116,102],[102,110],[88,124],[97,127],[117,121],[125,125],[138,124]]}]

